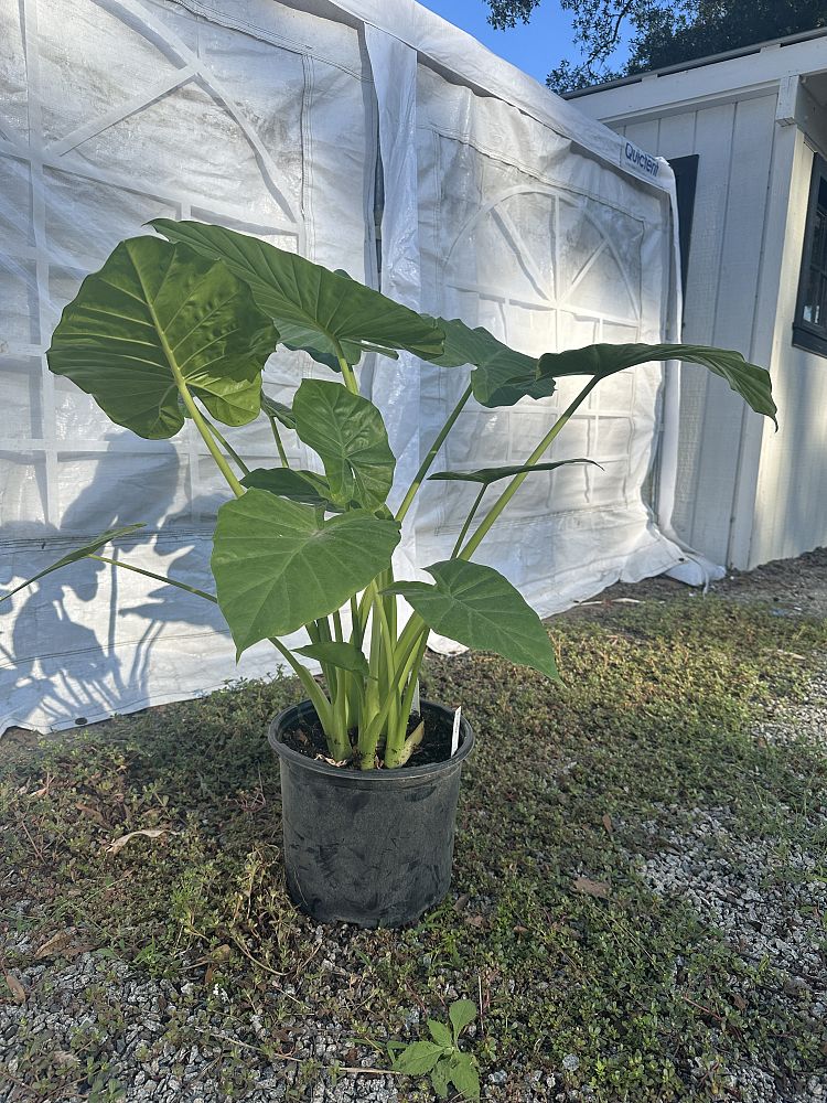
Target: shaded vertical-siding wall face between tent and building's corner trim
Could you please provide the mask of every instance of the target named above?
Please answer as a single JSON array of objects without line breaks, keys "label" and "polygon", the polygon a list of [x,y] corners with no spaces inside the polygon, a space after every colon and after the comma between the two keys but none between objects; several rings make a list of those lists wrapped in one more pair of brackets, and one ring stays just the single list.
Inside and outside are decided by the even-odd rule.
[{"label": "shaded vertical-siding wall face between tent and building's corner trim", "polygon": [[[775,95],[627,125],[663,157],[697,153],[683,339],[750,355],[761,266]],[[723,379],[684,370],[674,525],[699,552],[730,561],[743,403]],[[735,566],[745,566],[735,564]]]}]

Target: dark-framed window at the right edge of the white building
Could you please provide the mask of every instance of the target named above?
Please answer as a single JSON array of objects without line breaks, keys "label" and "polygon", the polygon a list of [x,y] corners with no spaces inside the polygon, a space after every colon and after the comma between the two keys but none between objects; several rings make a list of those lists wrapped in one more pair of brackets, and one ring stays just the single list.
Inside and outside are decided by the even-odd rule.
[{"label": "dark-framed window at the right edge of the white building", "polygon": [[793,344],[827,356],[827,161],[821,157],[813,165]]}]

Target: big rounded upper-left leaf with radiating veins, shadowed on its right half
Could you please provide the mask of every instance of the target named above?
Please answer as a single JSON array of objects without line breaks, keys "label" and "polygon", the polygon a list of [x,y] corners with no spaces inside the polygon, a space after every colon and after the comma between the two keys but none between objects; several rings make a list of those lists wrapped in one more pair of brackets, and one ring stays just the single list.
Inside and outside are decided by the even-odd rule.
[{"label": "big rounded upper-left leaf with radiating veins, shadowed on its right half", "polygon": [[183,426],[183,387],[218,421],[251,421],[277,341],[249,288],[222,264],[135,237],[83,281],[47,357],[112,421],[154,439]]}]

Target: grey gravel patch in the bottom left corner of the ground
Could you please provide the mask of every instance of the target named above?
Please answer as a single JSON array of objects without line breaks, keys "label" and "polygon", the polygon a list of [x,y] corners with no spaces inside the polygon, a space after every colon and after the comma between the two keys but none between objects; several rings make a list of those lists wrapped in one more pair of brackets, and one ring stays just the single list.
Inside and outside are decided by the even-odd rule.
[{"label": "grey gravel patch in the bottom left corner of the ground", "polygon": [[[318,932],[322,940],[322,930]],[[24,939],[9,947],[22,954],[32,947]],[[43,962],[20,971],[20,981],[32,993],[25,1006],[0,1009],[0,1039],[6,1052],[8,1073],[17,1078],[2,1100],[24,1100],[25,1082],[31,1075],[32,1048],[49,1062],[77,1067],[78,1035],[108,1036],[111,1051],[109,1068],[93,1074],[78,1085],[78,1096],[89,1096],[95,1103],[104,1100],[125,1099],[135,1103],[223,1103],[229,1099],[230,1088],[217,1075],[217,1065],[224,1062],[227,1051],[235,1050],[239,1062],[246,1063],[246,1075],[251,1081],[241,1094],[233,1090],[233,1099],[244,1103],[276,1103],[284,1099],[307,1099],[311,1103],[396,1103],[399,1096],[391,1077],[343,1073],[341,1081],[307,1085],[297,1095],[288,1092],[300,1088],[298,1069],[308,1058],[330,1059],[343,1045],[341,1029],[335,1024],[302,1022],[300,1035],[291,1035],[290,1056],[294,1061],[268,1063],[249,1041],[238,1038],[232,1018],[222,1008],[221,988],[213,992],[212,1006],[204,1007],[193,984],[176,985],[163,979],[148,978],[125,962],[82,953],[72,961],[57,964]],[[114,1014],[115,1013],[115,1014]],[[286,1036],[294,1022],[283,1024]],[[254,1024],[255,1028],[255,1024]],[[175,1035],[185,1034],[201,1038],[200,1045],[180,1049]],[[264,1039],[262,1039],[264,1040]],[[31,1046],[34,1042],[34,1047]],[[29,1057],[15,1056],[25,1048]],[[256,1060],[249,1060],[255,1058]],[[362,1062],[370,1064],[369,1058]],[[30,1065],[26,1068],[26,1065]],[[35,1096],[37,1097],[37,1096]],[[63,1100],[54,1100],[63,1103]]]}]

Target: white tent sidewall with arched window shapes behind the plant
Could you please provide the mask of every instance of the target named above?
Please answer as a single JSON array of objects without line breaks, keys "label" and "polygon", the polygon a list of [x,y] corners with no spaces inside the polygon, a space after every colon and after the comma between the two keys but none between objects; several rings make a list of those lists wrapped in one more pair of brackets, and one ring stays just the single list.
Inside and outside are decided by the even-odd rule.
[{"label": "white tent sidewall with arched window shapes behind the plant", "polygon": [[[0,586],[136,521],[147,527],[119,556],[211,586],[225,493],[197,435],[141,440],[45,364],[83,276],[150,218],[257,234],[528,353],[669,335],[668,169],[653,176],[412,0],[0,0]],[[311,371],[279,353],[268,390],[289,399]],[[410,356],[362,372],[404,486],[465,376]],[[483,545],[541,613],[680,558],[643,497],[659,385],[656,367],[602,384],[552,456],[604,470],[528,480]],[[520,461],[572,394],[504,411],[472,401],[438,468]],[[264,422],[233,443],[271,462]],[[462,484],[431,486],[406,526],[404,574],[444,558],[464,515]],[[261,645],[236,667],[212,606],[86,561],[0,606],[0,731],[277,665]]]}]

